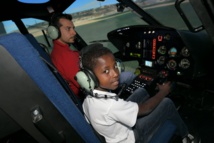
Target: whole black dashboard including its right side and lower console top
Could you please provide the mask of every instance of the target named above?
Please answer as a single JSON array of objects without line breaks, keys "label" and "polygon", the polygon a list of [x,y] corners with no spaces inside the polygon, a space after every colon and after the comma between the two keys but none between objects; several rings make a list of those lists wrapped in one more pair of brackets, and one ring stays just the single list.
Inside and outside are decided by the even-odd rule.
[{"label": "whole black dashboard including its right side and lower console top", "polygon": [[107,37],[119,50],[117,58],[139,62],[140,74],[126,88],[128,93],[144,87],[154,94],[157,82],[190,81],[210,70],[206,66],[211,60],[213,52],[210,49],[213,51],[213,47],[204,31],[192,33],[168,27],[134,25],[113,30]]}]

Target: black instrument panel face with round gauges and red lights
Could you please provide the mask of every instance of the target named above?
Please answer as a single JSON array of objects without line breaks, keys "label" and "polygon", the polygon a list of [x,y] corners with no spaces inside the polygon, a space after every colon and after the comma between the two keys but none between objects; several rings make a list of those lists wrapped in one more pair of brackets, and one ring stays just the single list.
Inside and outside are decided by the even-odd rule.
[{"label": "black instrument panel face with round gauges and red lights", "polygon": [[175,29],[136,25],[116,29],[107,36],[122,59],[138,60],[142,69],[154,69],[155,73],[165,70],[170,75],[193,72],[191,51]]}]

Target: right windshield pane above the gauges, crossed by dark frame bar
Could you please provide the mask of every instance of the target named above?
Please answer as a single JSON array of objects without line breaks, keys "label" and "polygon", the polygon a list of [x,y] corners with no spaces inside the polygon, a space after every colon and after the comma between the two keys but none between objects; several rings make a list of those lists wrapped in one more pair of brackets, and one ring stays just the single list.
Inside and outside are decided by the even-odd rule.
[{"label": "right windshield pane above the gauges, crossed by dark frame bar", "polygon": [[202,25],[189,0],[181,3],[176,0],[133,0],[133,2],[164,26],[179,30],[191,30],[191,28],[195,29]]}]

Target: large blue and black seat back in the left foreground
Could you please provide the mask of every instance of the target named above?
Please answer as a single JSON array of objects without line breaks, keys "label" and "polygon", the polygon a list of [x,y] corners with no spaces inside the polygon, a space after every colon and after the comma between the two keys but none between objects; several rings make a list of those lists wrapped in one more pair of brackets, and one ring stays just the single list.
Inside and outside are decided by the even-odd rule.
[{"label": "large blue and black seat back in the left foreground", "polygon": [[[100,142],[81,111],[24,35],[11,33],[2,36],[0,45],[0,57],[4,57],[0,60],[3,67],[0,76],[4,77],[0,81],[0,108],[12,120],[39,142],[53,142],[53,135],[57,136],[57,141],[63,142]],[[38,124],[31,118],[34,109],[41,110],[45,117]],[[60,130],[62,138],[58,136]],[[66,134],[67,130],[70,134]]]}]

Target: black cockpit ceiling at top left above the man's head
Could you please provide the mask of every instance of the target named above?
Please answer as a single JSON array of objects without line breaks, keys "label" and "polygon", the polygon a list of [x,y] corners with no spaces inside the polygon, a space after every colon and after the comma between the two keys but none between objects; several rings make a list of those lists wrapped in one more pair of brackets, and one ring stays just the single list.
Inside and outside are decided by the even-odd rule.
[{"label": "black cockpit ceiling at top left above the man's head", "polygon": [[0,4],[0,21],[20,18],[48,19],[52,12],[63,12],[74,0],[50,0],[41,4],[27,4],[7,0]]}]

